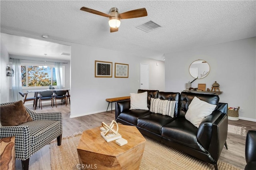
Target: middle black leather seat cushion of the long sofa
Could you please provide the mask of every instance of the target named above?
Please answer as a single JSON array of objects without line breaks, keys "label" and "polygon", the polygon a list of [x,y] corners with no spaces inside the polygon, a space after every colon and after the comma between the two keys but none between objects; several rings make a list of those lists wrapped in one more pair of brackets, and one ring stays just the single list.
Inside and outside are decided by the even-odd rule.
[{"label": "middle black leather seat cushion of the long sofa", "polygon": [[150,132],[154,132],[156,134],[161,135],[162,126],[170,123],[175,118],[172,118],[167,115],[155,114],[152,113],[150,115],[146,115],[144,117],[140,117],[138,119],[138,127],[144,128]]}]

